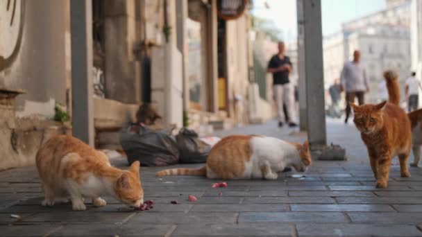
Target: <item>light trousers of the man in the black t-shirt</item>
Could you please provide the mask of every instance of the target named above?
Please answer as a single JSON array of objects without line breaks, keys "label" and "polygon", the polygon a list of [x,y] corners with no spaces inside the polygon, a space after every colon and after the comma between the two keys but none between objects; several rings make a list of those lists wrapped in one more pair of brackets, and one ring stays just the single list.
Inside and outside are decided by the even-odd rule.
[{"label": "light trousers of the man in the black t-shirt", "polygon": [[289,116],[289,121],[287,122],[294,122],[296,114],[294,111],[294,89],[292,84],[273,85],[273,96],[274,100],[276,100],[278,121],[285,122],[286,120],[282,109],[282,105],[285,103],[287,116]]}]

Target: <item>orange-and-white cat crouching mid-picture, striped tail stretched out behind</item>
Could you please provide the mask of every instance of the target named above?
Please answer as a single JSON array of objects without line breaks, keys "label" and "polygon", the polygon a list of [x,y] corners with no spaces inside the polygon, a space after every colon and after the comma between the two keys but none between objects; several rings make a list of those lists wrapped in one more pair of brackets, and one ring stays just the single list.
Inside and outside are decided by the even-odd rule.
[{"label": "orange-and-white cat crouching mid-picture, striped tail stretched out behind", "polygon": [[212,179],[277,179],[278,172],[293,166],[304,172],[311,164],[309,143],[289,143],[273,137],[234,135],[221,139],[210,150],[202,168],[174,168],[155,173],[198,175]]}]

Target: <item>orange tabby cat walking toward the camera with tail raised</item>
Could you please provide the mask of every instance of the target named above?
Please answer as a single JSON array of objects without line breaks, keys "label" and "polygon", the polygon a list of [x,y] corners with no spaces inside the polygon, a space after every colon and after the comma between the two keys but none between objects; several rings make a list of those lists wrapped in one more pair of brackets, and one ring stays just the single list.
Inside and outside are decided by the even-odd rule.
[{"label": "orange tabby cat walking toward the camera with tail raised", "polygon": [[[389,85],[389,101],[399,103],[398,90],[391,87],[397,83],[396,76],[393,76],[396,74],[386,71],[384,75],[387,86]],[[412,134],[406,112],[398,105],[387,101],[377,105],[361,106],[351,103],[351,106],[355,114],[353,122],[361,132],[362,141],[368,149],[371,168],[377,181],[376,186],[387,188],[391,160],[396,155],[400,161],[400,175],[410,177],[407,159],[412,146]]]}]

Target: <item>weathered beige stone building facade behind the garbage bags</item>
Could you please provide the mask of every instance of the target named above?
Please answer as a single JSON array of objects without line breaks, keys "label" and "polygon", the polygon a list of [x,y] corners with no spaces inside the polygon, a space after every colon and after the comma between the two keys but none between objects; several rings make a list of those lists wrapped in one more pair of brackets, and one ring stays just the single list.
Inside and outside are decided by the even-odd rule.
[{"label": "weathered beige stone building facade behind the garbage bags", "polygon": [[[189,121],[189,127],[202,133],[248,122],[253,62],[247,1],[238,6],[220,3],[93,0],[87,5],[92,11],[87,16],[92,17],[96,134],[121,128],[126,114],[133,118],[140,103],[152,103],[164,123],[180,128]],[[222,8],[239,14],[223,19]],[[72,106],[76,99],[72,90],[78,90],[72,88],[72,70],[78,70],[71,65],[72,10],[71,1],[0,1],[0,30],[6,32],[0,35],[1,94],[11,98],[10,93],[25,92],[8,102],[13,113],[1,125],[1,150],[6,153],[1,154],[0,168],[33,164],[37,148],[48,137],[42,132],[40,139],[38,130],[49,134],[71,130],[70,123],[52,121],[58,103],[70,117],[72,109],[78,109]],[[21,152],[22,161],[17,161],[8,152],[16,145],[10,143],[10,137],[18,134],[14,124],[22,120],[25,128],[40,121],[43,125],[33,126],[30,139],[35,145]],[[50,132],[52,128],[56,132]],[[103,140],[96,144],[104,145]],[[18,141],[28,150],[25,139]]]}]

